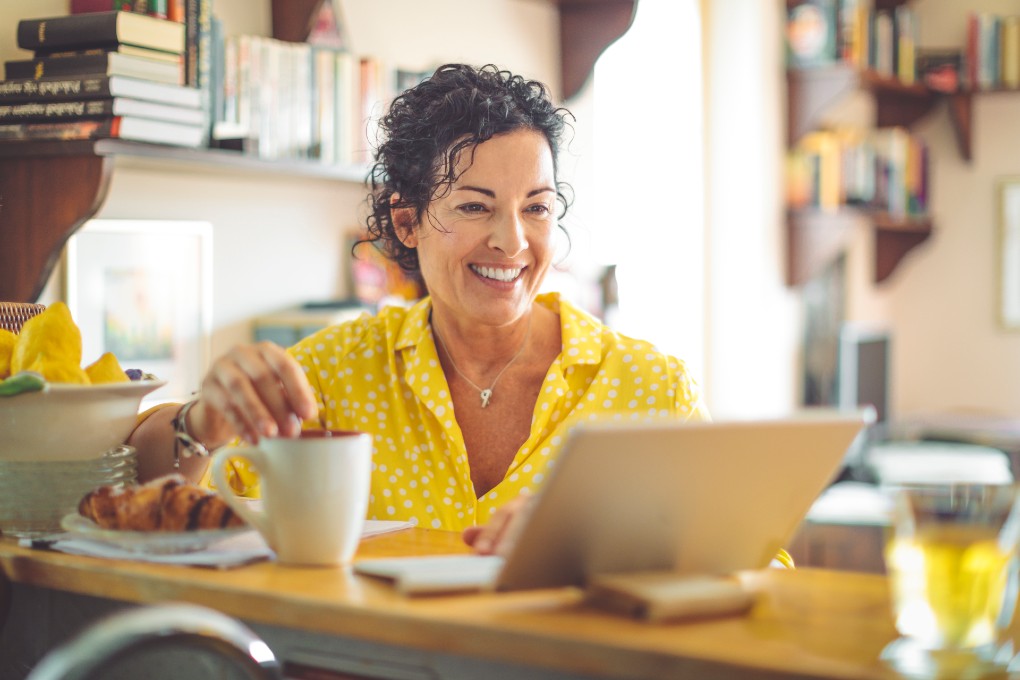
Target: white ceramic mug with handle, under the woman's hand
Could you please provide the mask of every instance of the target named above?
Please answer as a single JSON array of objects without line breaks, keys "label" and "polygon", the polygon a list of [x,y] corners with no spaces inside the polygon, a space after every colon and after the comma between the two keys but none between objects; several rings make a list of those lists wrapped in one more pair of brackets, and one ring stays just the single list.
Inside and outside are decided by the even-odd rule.
[{"label": "white ceramic mug with handle, under the woman's hand", "polygon": [[[231,458],[245,458],[258,471],[261,510],[232,492],[224,469]],[[342,565],[354,557],[364,528],[371,459],[368,434],[305,430],[300,437],[220,449],[212,457],[212,478],[227,505],[262,534],[277,562]]]}]

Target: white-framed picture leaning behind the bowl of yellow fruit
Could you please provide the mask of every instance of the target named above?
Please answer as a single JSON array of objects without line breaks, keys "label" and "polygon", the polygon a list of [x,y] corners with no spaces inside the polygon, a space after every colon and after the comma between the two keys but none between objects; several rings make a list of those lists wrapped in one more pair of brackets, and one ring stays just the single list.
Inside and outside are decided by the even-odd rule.
[{"label": "white-framed picture leaning behind the bowl of yellow fruit", "polygon": [[145,406],[187,401],[209,363],[212,225],[94,219],[67,242],[66,299],[83,364],[112,352],[167,381]]}]

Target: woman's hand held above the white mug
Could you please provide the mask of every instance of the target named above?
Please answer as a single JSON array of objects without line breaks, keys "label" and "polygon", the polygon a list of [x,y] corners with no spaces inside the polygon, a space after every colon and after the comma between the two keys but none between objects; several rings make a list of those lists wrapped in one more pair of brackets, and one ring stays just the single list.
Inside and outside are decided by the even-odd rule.
[{"label": "woman's hand held above the white mug", "polygon": [[297,436],[318,414],[304,369],[278,345],[242,345],[217,359],[202,381],[189,428],[209,449],[240,436]]}]

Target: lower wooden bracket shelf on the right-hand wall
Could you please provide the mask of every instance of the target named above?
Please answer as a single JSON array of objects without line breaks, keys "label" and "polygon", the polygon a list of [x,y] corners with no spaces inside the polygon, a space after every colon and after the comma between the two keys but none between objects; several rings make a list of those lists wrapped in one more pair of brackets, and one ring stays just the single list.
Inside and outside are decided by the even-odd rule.
[{"label": "lower wooden bracket shelf on the right-hand wall", "polygon": [[786,283],[802,285],[846,250],[862,221],[875,231],[874,282],[884,281],[900,261],[931,236],[931,220],[847,207],[838,211],[790,210],[786,213]]}]

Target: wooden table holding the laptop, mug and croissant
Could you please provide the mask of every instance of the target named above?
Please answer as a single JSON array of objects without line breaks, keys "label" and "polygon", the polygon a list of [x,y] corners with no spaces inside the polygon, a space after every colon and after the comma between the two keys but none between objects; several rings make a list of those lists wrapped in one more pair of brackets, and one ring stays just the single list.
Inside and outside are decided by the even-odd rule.
[{"label": "wooden table holding the laptop, mug and croissant", "polygon": [[[456,534],[416,528],[366,539],[358,557],[464,550]],[[345,568],[260,563],[218,571],[36,551],[11,539],[0,539],[0,569],[13,603],[0,633],[0,660],[26,653],[12,647],[24,646],[19,631],[36,616],[33,598],[45,595],[40,607],[49,611],[40,616],[84,622],[92,610],[98,616],[128,603],[202,604],[249,623],[285,662],[299,647],[337,659],[360,656],[358,663],[399,659],[406,673],[393,677],[896,677],[878,661],[895,631],[886,582],[871,574],[748,573],[742,578],[759,596],[747,616],[650,624],[596,610],[575,588],[407,598]],[[54,639],[37,641],[36,653],[69,634],[54,632],[52,622],[42,628]],[[3,668],[0,676],[8,677]]]}]

